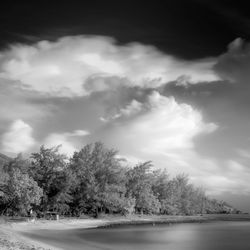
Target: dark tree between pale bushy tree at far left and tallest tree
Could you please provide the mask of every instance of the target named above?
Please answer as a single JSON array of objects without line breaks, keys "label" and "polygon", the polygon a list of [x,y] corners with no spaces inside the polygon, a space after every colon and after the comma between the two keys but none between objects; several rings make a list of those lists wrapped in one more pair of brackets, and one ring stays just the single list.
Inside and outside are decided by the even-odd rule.
[{"label": "dark tree between pale bushy tree at far left and tallest tree", "polygon": [[71,202],[71,176],[67,169],[64,154],[59,153],[59,147],[40,147],[38,153],[31,155],[30,175],[43,189],[40,209],[57,211],[65,214]]}]

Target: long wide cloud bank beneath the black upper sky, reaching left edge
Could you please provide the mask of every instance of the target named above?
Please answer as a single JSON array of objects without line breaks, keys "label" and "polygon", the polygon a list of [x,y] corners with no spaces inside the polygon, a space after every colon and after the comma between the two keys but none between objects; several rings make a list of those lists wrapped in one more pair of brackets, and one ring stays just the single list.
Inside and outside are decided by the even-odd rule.
[{"label": "long wide cloud bank beneath the black upper sky, reaching left edge", "polygon": [[111,76],[127,79],[123,82],[127,86],[141,87],[176,79],[210,82],[218,79],[212,69],[215,62],[177,59],[139,43],[120,46],[108,37],[72,36],[10,46],[0,53],[0,77],[18,81],[22,88],[69,97],[109,89],[105,78]]}]

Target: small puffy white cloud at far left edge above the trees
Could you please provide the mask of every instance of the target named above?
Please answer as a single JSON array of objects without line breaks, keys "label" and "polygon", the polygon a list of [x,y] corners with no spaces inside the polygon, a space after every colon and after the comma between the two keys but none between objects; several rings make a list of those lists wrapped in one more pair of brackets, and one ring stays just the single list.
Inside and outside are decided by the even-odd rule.
[{"label": "small puffy white cloud at far left edge above the trees", "polygon": [[34,144],[32,127],[22,120],[14,121],[2,136],[2,150],[9,153],[26,152]]}]

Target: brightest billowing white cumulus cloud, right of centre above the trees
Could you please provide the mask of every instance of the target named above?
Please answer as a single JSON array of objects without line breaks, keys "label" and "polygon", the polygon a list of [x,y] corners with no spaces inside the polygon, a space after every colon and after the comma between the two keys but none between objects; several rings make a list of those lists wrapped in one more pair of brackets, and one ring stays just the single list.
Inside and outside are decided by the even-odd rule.
[{"label": "brightest billowing white cumulus cloud, right of centre above the trees", "polygon": [[[129,115],[132,119],[126,122]],[[112,141],[117,140],[118,144],[127,145],[147,157],[152,154],[180,157],[179,150],[193,148],[195,136],[217,128],[214,123],[205,123],[201,113],[192,106],[179,104],[173,97],[162,96],[156,91],[145,103],[132,101],[121,109],[109,119],[109,126]]]}]

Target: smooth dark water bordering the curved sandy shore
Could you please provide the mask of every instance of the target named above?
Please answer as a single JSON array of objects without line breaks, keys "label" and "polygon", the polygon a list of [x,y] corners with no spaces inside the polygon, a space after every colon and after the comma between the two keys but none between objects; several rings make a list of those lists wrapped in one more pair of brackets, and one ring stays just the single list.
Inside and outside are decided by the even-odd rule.
[{"label": "smooth dark water bordering the curved sandy shore", "polygon": [[250,250],[250,222],[39,230],[26,236],[65,250]]}]

